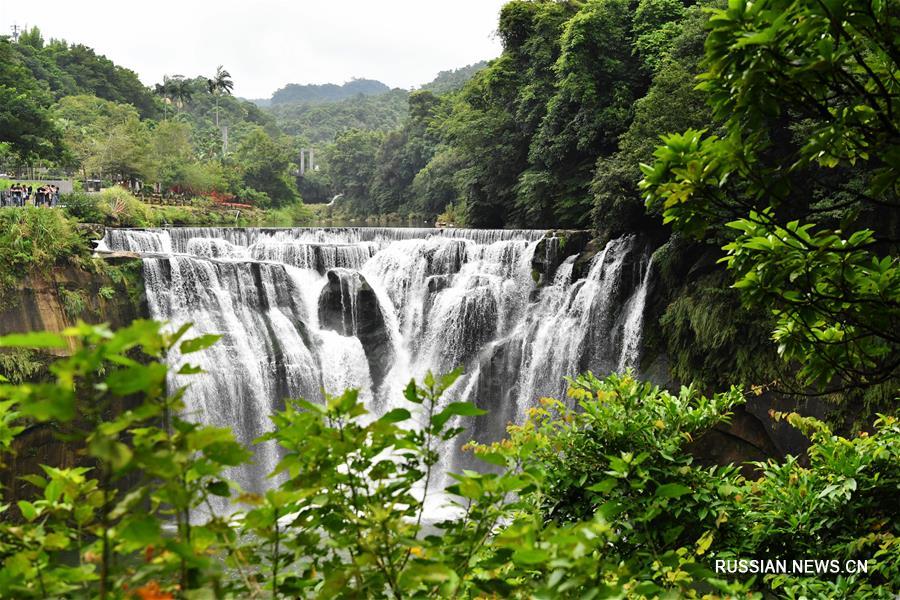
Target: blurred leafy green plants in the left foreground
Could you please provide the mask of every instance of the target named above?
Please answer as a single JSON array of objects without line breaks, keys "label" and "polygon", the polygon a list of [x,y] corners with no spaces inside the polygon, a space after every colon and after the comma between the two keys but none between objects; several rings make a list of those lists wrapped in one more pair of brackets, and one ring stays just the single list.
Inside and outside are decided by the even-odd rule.
[{"label": "blurred leafy green plants in the left foreground", "polygon": [[[79,325],[64,332],[77,348],[54,365],[54,382],[0,387],[6,427],[10,416],[19,422],[52,420],[71,443],[83,444],[91,465],[44,467],[42,475],[28,477],[35,492],[18,503],[21,522],[5,522],[0,535],[4,597],[88,590],[106,597],[157,580],[169,589],[175,580],[183,590],[216,587],[221,570],[206,551],[222,532],[220,524],[192,524],[189,512],[218,491],[225,467],[249,453],[229,432],[182,420],[183,390],[165,394],[167,369],[153,359],[215,341],[184,340],[186,330],[163,334],[157,323],[136,321],[112,334]],[[38,343],[65,341],[47,334],[0,339],[5,346]],[[135,360],[138,351],[149,362]],[[110,407],[132,394],[140,395],[137,405],[110,414]],[[169,520],[174,533],[166,535],[161,525]]]}]

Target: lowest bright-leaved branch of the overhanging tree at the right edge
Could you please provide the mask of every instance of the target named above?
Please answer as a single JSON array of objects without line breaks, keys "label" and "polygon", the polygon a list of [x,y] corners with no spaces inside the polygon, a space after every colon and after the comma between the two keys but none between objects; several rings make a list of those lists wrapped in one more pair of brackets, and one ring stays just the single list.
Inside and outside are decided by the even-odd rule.
[{"label": "lowest bright-leaved branch of the overhanging tree at the right edge", "polygon": [[782,227],[755,212],[729,226],[740,232],[725,246],[734,287],[751,304],[777,302],[772,338],[785,359],[801,365],[803,381],[893,378],[900,264],[872,252],[871,230],[844,237],[812,223]]}]

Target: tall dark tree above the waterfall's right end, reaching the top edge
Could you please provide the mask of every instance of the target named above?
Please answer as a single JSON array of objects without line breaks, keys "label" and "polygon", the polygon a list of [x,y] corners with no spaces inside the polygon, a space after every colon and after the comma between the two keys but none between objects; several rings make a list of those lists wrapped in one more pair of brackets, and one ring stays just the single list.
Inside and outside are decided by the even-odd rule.
[{"label": "tall dark tree above the waterfall's right end, reaching the top edge", "polygon": [[[590,222],[588,186],[597,157],[616,150],[648,83],[632,50],[632,20],[625,0],[594,0],[565,23],[556,89],[530,144],[529,176],[519,186],[517,202],[528,223]],[[552,215],[542,206],[548,197]]]}]

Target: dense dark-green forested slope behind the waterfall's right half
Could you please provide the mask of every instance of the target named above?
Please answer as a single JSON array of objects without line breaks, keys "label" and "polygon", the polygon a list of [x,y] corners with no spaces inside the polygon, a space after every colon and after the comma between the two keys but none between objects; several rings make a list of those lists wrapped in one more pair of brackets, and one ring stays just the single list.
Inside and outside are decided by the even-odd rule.
[{"label": "dense dark-green forested slope behind the waterfall's right half", "polygon": [[[633,226],[637,165],[654,140],[709,121],[691,82],[705,19],[677,0],[511,2],[503,54],[385,138],[370,155],[379,174],[338,175],[335,191],[352,188],[347,201],[362,213],[433,216],[453,202],[473,226]],[[423,89],[452,91],[438,81]]]}]

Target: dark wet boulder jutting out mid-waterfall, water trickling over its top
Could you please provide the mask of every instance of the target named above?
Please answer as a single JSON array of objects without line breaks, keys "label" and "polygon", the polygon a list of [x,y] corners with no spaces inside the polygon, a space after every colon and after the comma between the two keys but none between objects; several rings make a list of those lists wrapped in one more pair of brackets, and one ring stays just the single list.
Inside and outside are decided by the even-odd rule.
[{"label": "dark wet boulder jutting out mid-waterfall, water trickling over its top", "polygon": [[[332,269],[328,283],[319,295],[319,323],[341,335],[359,338],[372,383],[377,388],[384,381],[394,359],[394,349],[375,290],[361,274]],[[341,365],[323,365],[341,368]]]}]

